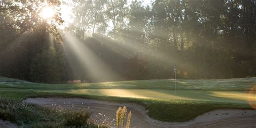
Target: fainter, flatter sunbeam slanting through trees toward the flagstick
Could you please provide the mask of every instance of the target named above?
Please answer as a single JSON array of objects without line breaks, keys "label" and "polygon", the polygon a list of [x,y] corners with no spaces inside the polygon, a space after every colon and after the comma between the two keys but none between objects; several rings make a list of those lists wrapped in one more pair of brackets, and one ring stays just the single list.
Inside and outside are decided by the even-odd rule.
[{"label": "fainter, flatter sunbeam slanting through trees toward the flagstick", "polygon": [[[100,35],[93,36],[97,39],[97,41],[104,44],[105,37],[101,37]],[[161,50],[147,50],[146,44],[143,44],[138,41],[134,41],[133,37],[127,37],[123,43],[116,42],[116,41],[109,41],[109,43],[112,43],[110,45],[106,46],[113,46],[122,49],[122,51],[118,52],[120,55],[123,55],[124,57],[134,56],[136,54],[146,58],[149,62],[158,62],[161,64],[161,66],[165,65],[179,65],[180,70],[184,70],[186,72],[195,72],[196,68],[193,67],[190,62],[184,62],[183,59],[179,58],[177,55],[170,55],[169,53],[166,53],[166,51]],[[109,47],[109,49],[111,49]],[[186,64],[186,65],[184,65]],[[184,68],[184,66],[189,66],[190,69]]]}]

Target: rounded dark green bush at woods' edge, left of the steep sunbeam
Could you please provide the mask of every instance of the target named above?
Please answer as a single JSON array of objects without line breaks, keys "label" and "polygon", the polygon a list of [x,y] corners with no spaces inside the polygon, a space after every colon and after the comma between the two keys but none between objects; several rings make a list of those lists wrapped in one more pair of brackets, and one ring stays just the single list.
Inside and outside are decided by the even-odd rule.
[{"label": "rounded dark green bush at woods' edge, left of the steep sunbeam", "polygon": [[60,52],[43,50],[33,59],[30,66],[30,77],[33,82],[60,82],[64,71],[64,62]]}]

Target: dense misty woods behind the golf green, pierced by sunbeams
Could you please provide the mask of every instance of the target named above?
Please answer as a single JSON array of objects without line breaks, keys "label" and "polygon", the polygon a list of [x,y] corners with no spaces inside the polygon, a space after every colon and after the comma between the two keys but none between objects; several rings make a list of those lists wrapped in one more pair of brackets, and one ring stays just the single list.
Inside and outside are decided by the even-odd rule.
[{"label": "dense misty woods behind the golf green, pierced by sunbeams", "polygon": [[[48,20],[44,3],[55,6]],[[62,18],[71,8],[72,22]],[[0,76],[42,83],[256,76],[254,0],[0,0]]]}]

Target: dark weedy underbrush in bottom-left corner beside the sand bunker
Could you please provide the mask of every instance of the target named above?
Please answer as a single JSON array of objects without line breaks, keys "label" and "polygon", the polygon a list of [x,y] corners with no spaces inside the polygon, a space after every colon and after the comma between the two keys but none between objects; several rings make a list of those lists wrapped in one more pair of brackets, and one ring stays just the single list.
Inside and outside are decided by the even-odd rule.
[{"label": "dark weedy underbrush in bottom-left corner beside the sand bunker", "polygon": [[87,110],[50,109],[21,100],[0,99],[0,119],[23,127],[108,127],[89,121]]}]

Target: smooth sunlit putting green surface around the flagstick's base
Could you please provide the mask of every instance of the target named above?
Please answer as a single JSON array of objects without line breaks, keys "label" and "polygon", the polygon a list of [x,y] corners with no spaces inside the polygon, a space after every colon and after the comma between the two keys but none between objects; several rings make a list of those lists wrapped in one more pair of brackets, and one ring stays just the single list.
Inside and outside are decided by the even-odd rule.
[{"label": "smooth sunlit putting green surface around the flagstick's base", "polygon": [[[43,90],[42,90],[43,91]],[[46,91],[46,90],[45,90]],[[55,90],[57,91],[57,90]],[[255,100],[255,94],[248,91],[205,91],[205,90],[139,90],[139,89],[79,89],[58,90],[64,93],[76,93],[98,96],[114,96],[129,98],[151,98],[151,99],[185,99],[197,101],[225,102],[225,103],[248,103]]]}]

